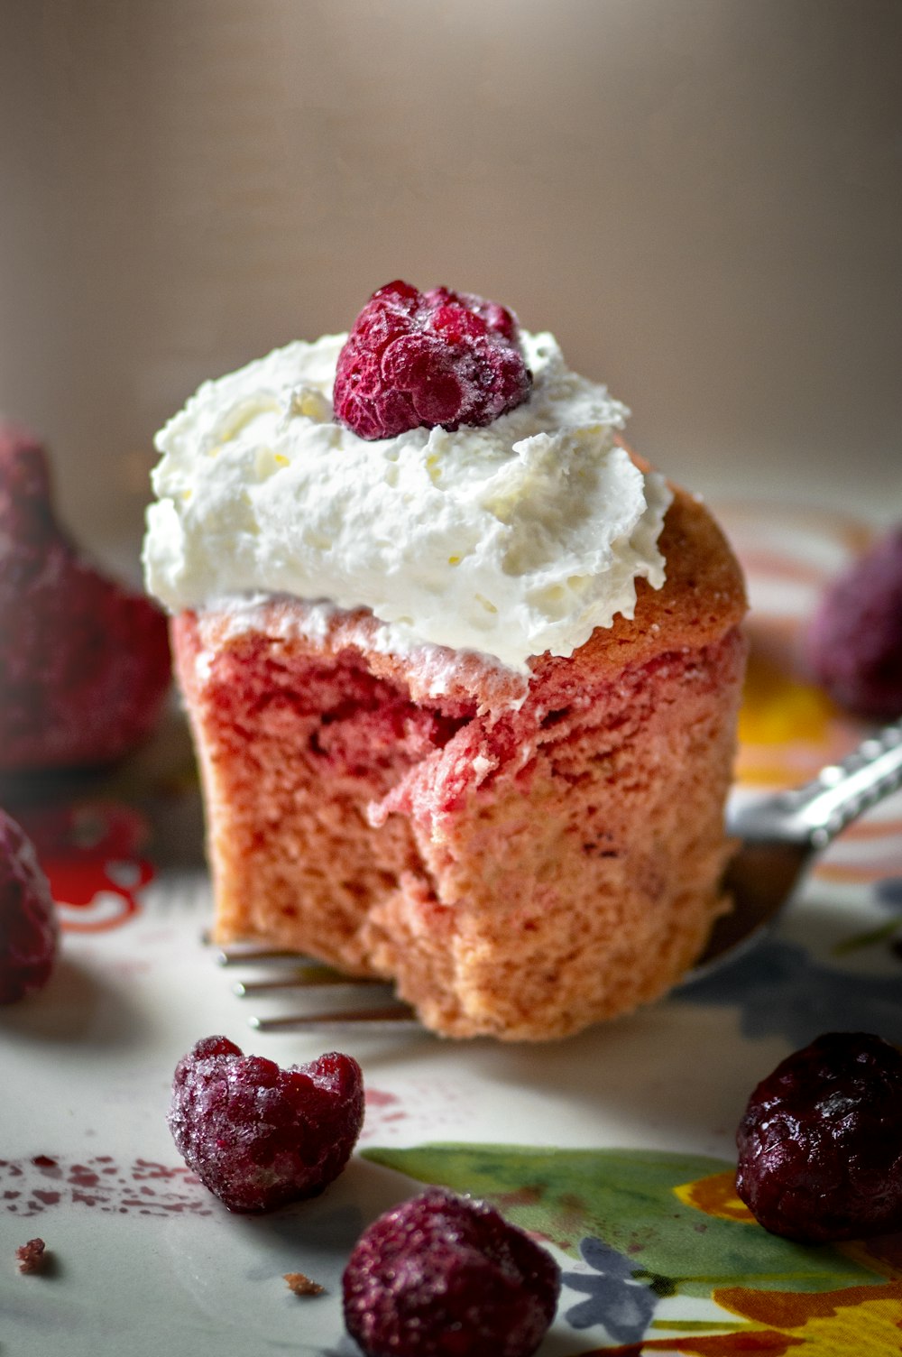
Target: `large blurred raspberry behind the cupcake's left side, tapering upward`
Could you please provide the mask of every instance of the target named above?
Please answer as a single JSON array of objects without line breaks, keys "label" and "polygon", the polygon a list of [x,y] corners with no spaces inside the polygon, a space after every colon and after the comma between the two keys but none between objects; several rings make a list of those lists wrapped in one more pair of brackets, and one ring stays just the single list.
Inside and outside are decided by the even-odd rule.
[{"label": "large blurred raspberry behind the cupcake's left side, tapering upward", "polygon": [[57,524],[41,445],[0,425],[0,771],[119,759],[170,687],[164,615]]}]

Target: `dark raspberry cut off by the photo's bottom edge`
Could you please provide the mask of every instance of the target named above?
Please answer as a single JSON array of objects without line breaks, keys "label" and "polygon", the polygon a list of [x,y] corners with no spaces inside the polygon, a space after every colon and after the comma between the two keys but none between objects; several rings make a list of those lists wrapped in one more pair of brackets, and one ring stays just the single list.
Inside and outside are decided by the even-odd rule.
[{"label": "dark raspberry cut off by the photo's bottom edge", "polygon": [[528,1357],[555,1316],[560,1270],[496,1210],[441,1187],[364,1231],[343,1278],[366,1357]]}]

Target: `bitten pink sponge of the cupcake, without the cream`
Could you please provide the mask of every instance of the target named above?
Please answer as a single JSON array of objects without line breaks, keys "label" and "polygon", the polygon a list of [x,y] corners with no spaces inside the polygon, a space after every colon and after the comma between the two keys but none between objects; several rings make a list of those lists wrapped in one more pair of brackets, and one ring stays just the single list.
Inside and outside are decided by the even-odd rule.
[{"label": "bitten pink sponge of the cupcake, without the cream", "polygon": [[667,578],[530,677],[385,653],[366,611],[180,612],[221,942],[396,981],[449,1037],[563,1037],[665,993],[727,908],[739,569],[674,491]]}]

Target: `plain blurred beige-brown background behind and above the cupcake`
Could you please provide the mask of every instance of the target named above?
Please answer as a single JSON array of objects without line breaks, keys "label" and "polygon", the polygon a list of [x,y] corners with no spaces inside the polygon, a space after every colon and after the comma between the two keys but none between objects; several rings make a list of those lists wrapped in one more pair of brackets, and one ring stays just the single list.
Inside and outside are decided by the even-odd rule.
[{"label": "plain blurred beige-brown background behind and above the cupcake", "polygon": [[0,0],[0,408],[137,560],[155,430],[404,277],[715,502],[902,517],[898,0]]}]

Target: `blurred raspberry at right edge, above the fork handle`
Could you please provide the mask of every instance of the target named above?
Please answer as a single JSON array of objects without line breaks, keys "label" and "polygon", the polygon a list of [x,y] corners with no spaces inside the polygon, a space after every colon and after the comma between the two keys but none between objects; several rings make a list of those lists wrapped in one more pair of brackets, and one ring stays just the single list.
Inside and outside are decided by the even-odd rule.
[{"label": "blurred raspberry at right edge, above the fork handle", "polygon": [[902,714],[902,527],[833,582],[806,639],[811,672],[841,707]]}]

